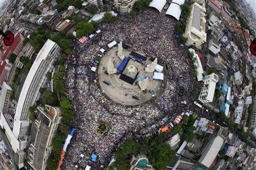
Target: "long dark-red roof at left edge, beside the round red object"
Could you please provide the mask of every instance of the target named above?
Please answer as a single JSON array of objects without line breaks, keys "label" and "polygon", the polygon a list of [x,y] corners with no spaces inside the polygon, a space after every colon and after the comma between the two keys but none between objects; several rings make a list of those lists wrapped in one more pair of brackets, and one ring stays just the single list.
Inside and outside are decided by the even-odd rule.
[{"label": "long dark-red roof at left edge, beside the round red object", "polygon": [[[3,46],[3,51],[1,53],[2,60],[0,61],[0,76],[2,76],[3,70],[5,69],[5,66],[6,66],[5,59],[9,56],[10,53],[14,52],[14,50],[16,49],[16,47],[19,45],[20,42],[21,42],[21,37],[20,37],[19,32],[16,33],[16,35],[14,37],[14,42],[10,46],[6,46],[5,44],[3,44],[3,37],[1,38],[0,44]],[[2,65],[1,65],[1,63],[2,63]],[[2,84],[0,84],[0,85],[2,85]]]}]

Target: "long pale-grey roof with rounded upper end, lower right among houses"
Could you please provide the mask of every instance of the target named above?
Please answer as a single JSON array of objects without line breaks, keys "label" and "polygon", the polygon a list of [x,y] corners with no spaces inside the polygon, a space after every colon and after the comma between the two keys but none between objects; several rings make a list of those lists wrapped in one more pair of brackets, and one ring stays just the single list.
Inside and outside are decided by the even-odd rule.
[{"label": "long pale-grey roof with rounded upper end, lower right among houses", "polygon": [[209,168],[210,165],[212,165],[213,160],[216,158],[218,151],[220,151],[220,148],[223,143],[224,139],[221,138],[219,135],[217,135],[217,137],[212,138],[205,146],[202,152],[202,156],[199,159],[199,163]]}]

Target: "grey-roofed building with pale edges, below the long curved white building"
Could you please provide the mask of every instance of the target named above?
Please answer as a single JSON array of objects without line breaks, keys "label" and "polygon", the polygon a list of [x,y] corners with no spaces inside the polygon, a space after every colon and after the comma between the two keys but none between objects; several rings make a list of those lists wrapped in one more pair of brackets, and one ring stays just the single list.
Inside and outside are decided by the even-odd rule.
[{"label": "grey-roofed building with pale edges, below the long curved white building", "polygon": [[36,108],[35,116],[27,163],[34,170],[46,169],[46,162],[52,151],[53,137],[62,117],[59,108],[48,105]]}]

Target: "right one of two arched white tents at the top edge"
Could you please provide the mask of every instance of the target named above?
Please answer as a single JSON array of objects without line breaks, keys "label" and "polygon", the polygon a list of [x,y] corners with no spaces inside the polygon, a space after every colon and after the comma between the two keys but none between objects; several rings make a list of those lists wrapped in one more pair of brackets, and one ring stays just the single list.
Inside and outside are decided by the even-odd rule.
[{"label": "right one of two arched white tents at the top edge", "polygon": [[166,15],[174,16],[177,20],[180,19],[181,8],[180,6],[183,5],[185,0],[174,0],[172,1],[171,5],[169,6],[168,10],[166,11]]}]

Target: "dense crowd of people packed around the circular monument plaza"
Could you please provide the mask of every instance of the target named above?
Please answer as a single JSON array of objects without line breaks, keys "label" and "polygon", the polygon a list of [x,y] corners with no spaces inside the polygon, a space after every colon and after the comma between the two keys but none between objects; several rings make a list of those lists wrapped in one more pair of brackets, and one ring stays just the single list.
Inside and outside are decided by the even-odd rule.
[{"label": "dense crowd of people packed around the circular monument plaza", "polygon": [[[156,10],[147,9],[137,16],[127,19],[119,16],[113,23],[101,23],[101,35],[82,46],[73,42],[72,57],[67,61],[65,76],[67,96],[75,109],[72,126],[76,133],[69,144],[62,169],[73,169],[76,165],[92,169],[103,169],[112,159],[114,152],[127,139],[135,141],[158,133],[177,114],[189,109],[181,101],[191,103],[191,91],[194,79],[191,76],[191,58],[184,46],[175,39],[176,20]],[[122,40],[131,51],[147,57],[157,57],[168,66],[168,82],[159,100],[135,107],[125,107],[107,99],[97,83],[92,80],[92,72],[86,68],[110,41]],[[189,105],[188,105],[189,106]],[[110,127],[105,134],[97,132],[101,121]],[[80,154],[85,157],[81,158]],[[97,155],[96,162],[90,156]]]}]

